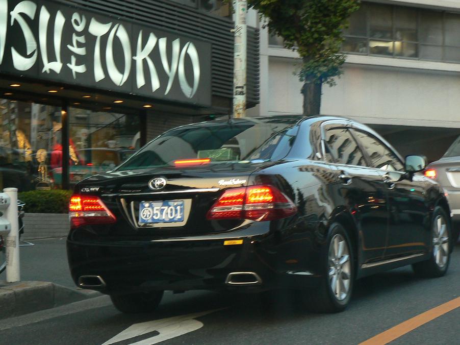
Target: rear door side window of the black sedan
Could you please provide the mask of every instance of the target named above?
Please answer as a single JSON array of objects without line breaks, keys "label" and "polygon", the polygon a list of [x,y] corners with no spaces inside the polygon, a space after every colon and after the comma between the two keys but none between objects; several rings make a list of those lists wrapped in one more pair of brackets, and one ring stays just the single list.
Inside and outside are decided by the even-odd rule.
[{"label": "rear door side window of the black sedan", "polygon": [[326,151],[337,164],[367,166],[363,153],[346,128],[326,131]]}]

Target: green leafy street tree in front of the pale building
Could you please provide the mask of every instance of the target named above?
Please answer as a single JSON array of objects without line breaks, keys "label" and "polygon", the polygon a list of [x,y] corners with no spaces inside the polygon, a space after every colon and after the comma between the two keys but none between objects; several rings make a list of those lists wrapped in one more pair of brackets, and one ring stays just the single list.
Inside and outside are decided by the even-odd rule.
[{"label": "green leafy street tree in front of the pale building", "polygon": [[304,115],[319,114],[322,84],[333,86],[341,75],[343,29],[359,5],[360,0],[248,0],[265,17],[270,34],[282,37],[302,59]]}]

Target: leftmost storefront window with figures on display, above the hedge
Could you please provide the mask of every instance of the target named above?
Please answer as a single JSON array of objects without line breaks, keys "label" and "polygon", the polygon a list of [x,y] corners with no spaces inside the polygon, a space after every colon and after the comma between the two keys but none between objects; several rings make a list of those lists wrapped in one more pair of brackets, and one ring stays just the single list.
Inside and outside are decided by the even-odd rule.
[{"label": "leftmost storefront window with figures on display, above the hedge", "polygon": [[0,189],[60,188],[53,170],[61,168],[61,109],[0,100],[0,118]]}]

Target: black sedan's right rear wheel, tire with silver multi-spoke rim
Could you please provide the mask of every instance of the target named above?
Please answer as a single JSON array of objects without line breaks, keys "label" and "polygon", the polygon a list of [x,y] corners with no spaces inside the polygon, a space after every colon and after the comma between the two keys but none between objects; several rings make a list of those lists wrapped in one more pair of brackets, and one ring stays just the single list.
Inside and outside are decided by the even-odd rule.
[{"label": "black sedan's right rear wheel, tire with silver multi-spoke rim", "polygon": [[343,311],[351,299],[355,273],[352,243],[339,223],[330,226],[321,260],[320,284],[302,293],[304,306],[319,313]]}]

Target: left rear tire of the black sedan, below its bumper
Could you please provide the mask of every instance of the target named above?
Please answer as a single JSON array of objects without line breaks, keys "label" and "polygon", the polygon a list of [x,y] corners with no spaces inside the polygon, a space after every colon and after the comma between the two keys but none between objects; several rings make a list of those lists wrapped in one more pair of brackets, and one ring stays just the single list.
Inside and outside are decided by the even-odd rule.
[{"label": "left rear tire of the black sedan, below its bumper", "polygon": [[125,314],[152,312],[160,305],[162,297],[163,291],[110,295],[115,308]]}]

